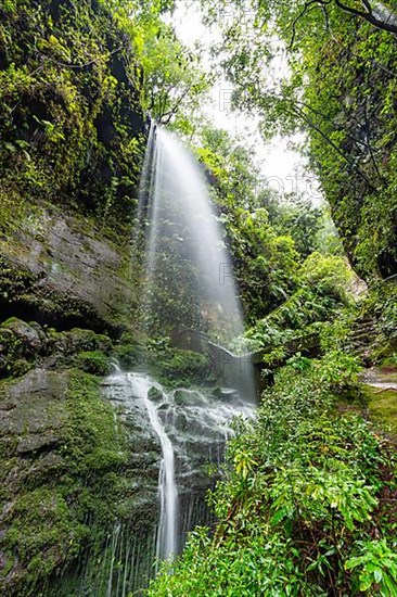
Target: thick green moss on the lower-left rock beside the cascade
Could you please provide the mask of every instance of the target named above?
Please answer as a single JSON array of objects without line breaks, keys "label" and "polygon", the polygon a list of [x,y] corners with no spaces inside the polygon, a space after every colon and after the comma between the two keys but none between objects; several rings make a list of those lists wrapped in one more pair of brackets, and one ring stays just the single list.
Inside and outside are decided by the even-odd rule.
[{"label": "thick green moss on the lower-left rock beside the cascade", "polygon": [[7,554],[0,576],[4,594],[42,595],[40,586],[55,571],[84,547],[105,541],[124,508],[127,440],[101,397],[99,381],[78,370],[68,373],[65,401],[50,401],[46,409],[51,427],[64,421],[49,453],[31,453],[26,460],[12,442],[3,445],[1,498],[11,505],[1,547]]}]

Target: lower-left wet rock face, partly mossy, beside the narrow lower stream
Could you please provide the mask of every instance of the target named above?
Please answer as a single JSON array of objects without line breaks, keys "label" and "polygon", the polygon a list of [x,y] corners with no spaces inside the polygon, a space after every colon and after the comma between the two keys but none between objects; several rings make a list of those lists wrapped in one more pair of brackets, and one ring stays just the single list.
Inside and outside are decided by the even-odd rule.
[{"label": "lower-left wet rock face, partly mossy, beside the narrow lower stream", "polygon": [[153,536],[158,442],[139,416],[119,421],[98,384],[77,369],[0,382],[1,595],[52,595],[52,576],[91,549],[93,570],[116,522]]}]

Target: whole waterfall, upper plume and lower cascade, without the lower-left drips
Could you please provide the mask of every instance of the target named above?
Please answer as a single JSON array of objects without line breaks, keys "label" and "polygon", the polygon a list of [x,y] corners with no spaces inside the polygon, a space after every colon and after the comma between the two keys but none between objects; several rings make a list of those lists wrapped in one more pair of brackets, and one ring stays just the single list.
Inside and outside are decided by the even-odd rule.
[{"label": "whole waterfall, upper plume and lower cascade, without the lower-left drips", "polygon": [[[228,344],[243,333],[226,232],[204,170],[175,135],[157,125],[152,125],[149,136],[135,237],[136,249],[142,252],[143,247],[144,255],[140,319],[146,332],[163,333],[184,326],[205,332],[217,344]],[[230,420],[236,414],[252,412],[249,363],[242,358],[235,367],[233,355],[226,351],[216,354],[221,355],[221,363],[215,366],[217,373],[232,380],[245,401],[233,391],[225,394],[223,402],[202,391],[167,394],[149,377],[128,376],[131,395],[144,403],[162,448],[156,531],[159,559],[172,558],[187,531],[207,521],[203,498],[209,481],[207,472],[203,475],[201,460],[205,458],[206,467],[219,469]],[[157,398],[162,396],[157,403],[151,397],[153,391]]]}]

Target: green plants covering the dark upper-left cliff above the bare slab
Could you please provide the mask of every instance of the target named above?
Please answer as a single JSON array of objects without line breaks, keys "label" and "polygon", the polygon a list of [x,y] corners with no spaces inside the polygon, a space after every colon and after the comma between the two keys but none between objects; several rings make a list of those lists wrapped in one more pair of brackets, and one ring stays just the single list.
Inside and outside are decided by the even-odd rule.
[{"label": "green plants covering the dark upper-left cliff above the bare slab", "polygon": [[9,3],[0,56],[1,196],[102,217],[131,211],[143,150],[140,84],[128,40],[103,5]]}]

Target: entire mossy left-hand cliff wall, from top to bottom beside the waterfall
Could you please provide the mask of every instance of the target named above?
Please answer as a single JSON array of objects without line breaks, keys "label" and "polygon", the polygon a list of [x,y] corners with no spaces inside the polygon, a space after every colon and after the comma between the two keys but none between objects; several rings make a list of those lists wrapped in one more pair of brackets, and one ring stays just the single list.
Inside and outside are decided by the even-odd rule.
[{"label": "entire mossy left-hand cliff wall, from top to bottom beside the waterfall", "polygon": [[82,548],[142,512],[132,480],[156,491],[158,445],[137,432],[131,448],[98,377],[133,321],[140,93],[102,3],[0,8],[2,595],[55,595]]}]

